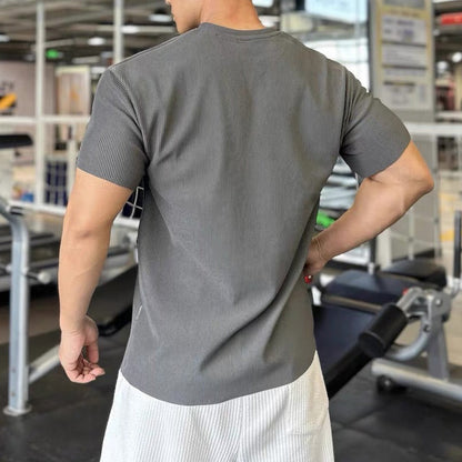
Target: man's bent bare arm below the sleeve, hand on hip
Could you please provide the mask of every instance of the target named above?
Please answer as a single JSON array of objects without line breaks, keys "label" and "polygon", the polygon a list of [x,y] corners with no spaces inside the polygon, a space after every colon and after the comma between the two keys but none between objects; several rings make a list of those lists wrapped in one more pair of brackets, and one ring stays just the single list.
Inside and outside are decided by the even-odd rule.
[{"label": "man's bent bare arm below the sleeve, hand on hip", "polygon": [[[333,257],[378,235],[432,189],[431,172],[411,141],[394,163],[365,178],[353,205],[313,239],[307,262],[311,265],[308,273],[315,273]],[[315,252],[320,254],[313,258]],[[314,262],[318,257],[323,262]]]}]

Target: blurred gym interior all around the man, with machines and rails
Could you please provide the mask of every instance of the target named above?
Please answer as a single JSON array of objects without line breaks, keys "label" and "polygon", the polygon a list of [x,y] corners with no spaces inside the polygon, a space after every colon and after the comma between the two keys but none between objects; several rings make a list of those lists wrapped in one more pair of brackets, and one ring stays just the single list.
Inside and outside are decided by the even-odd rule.
[{"label": "blurred gym interior all around the man, with machines and rails", "polygon": [[[404,122],[435,187],[308,290],[338,462],[462,461],[462,1],[254,0]],[[154,0],[0,0],[0,461],[97,462],[130,333],[140,185],[89,307],[106,375],[58,359],[62,219],[104,70],[178,34]],[[317,231],[351,207],[339,158]],[[281,461],[282,462],[282,461]]]}]

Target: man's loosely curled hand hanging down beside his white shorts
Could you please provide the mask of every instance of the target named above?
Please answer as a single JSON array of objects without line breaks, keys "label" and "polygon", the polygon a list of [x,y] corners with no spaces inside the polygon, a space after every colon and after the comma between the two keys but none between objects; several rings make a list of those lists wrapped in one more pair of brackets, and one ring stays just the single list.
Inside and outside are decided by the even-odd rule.
[{"label": "man's loosely curled hand hanging down beside his white shorts", "polygon": [[[61,329],[59,359],[71,382],[88,383],[106,372],[98,362],[98,327],[88,315],[74,330]],[[87,346],[88,359],[83,358],[82,349]]]}]

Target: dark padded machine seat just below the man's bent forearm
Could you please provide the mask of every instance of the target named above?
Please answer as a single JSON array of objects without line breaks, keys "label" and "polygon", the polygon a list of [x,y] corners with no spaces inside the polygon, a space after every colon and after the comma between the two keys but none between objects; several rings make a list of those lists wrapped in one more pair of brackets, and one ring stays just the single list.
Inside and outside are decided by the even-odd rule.
[{"label": "dark padded machine seat just below the man's bent forearm", "polygon": [[395,274],[369,274],[348,270],[322,289],[322,304],[361,308],[375,313],[385,303],[395,303],[411,287],[439,289],[413,278]]}]

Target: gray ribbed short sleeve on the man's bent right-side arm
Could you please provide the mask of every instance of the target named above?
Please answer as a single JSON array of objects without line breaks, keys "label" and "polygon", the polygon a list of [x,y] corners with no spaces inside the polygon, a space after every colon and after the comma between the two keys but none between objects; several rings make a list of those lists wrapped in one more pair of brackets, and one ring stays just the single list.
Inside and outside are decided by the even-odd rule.
[{"label": "gray ribbed short sleeve on the man's bent right-side arm", "polygon": [[340,155],[362,178],[396,161],[411,141],[401,119],[345,70]]}]

